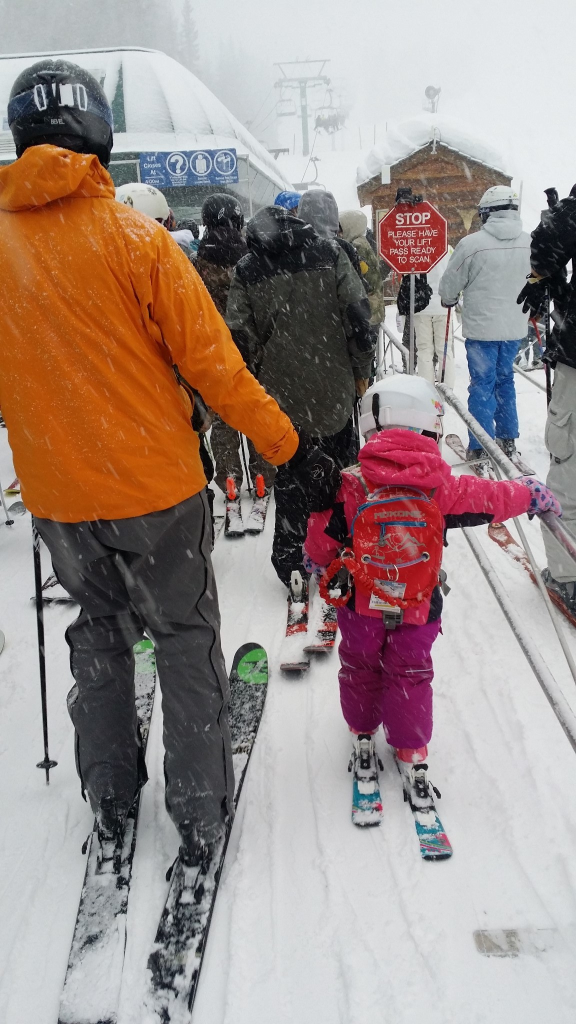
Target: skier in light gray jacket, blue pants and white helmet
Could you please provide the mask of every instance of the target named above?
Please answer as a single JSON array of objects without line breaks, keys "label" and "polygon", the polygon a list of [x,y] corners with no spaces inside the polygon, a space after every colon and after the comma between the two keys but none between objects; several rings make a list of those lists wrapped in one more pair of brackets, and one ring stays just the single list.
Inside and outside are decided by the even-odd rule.
[{"label": "skier in light gray jacket, blue pants and white helmet", "polygon": [[[479,213],[483,226],[456,246],[440,282],[440,298],[451,306],[463,293],[468,410],[512,458],[519,436],[512,365],[528,330],[528,313],[517,296],[530,273],[530,236],[522,229],[518,198],[507,185],[489,188]],[[481,455],[470,433],[467,457]]]}]

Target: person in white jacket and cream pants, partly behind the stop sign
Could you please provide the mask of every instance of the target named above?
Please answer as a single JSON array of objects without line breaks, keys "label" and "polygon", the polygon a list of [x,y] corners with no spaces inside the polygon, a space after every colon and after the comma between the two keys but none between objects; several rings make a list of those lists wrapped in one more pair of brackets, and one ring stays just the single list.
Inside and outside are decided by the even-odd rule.
[{"label": "person in white jacket and cream pants, partly behind the stop sign", "polygon": [[[443,256],[440,263],[431,268],[426,274],[426,281],[433,290],[431,299],[425,309],[420,313],[414,313],[414,329],[416,332],[416,344],[418,346],[418,376],[436,383],[434,356],[438,359],[437,376],[442,380],[442,365],[444,362],[444,345],[446,342],[446,322],[448,310],[440,301],[438,288],[440,280],[450,262],[452,248]],[[444,372],[444,384],[454,387],[454,341],[452,338],[452,316],[450,317],[450,329],[448,333],[448,347],[446,349],[446,368]]]}]

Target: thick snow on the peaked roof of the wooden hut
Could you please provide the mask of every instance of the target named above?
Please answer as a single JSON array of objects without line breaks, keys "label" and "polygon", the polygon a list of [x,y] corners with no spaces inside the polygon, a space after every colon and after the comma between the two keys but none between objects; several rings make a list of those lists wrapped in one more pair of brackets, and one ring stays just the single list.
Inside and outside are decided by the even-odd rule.
[{"label": "thick snow on the peaked roof of the wooden hut", "polygon": [[504,158],[494,146],[470,131],[456,118],[438,114],[420,114],[399,124],[389,125],[383,142],[370,151],[358,168],[357,183],[364,184],[379,174],[382,166],[398,164],[436,138],[462,156],[486,164],[493,170],[504,171]]}]

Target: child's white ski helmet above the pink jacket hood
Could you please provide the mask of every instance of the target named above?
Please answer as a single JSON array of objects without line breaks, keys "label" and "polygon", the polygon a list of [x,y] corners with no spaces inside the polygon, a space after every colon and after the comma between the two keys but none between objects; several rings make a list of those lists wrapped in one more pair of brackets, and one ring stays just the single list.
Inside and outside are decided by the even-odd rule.
[{"label": "child's white ski helmet above the pink jacket hood", "polygon": [[442,437],[444,406],[434,384],[423,377],[393,374],[372,384],[360,402],[360,429],[364,436],[386,427],[412,427]]}]

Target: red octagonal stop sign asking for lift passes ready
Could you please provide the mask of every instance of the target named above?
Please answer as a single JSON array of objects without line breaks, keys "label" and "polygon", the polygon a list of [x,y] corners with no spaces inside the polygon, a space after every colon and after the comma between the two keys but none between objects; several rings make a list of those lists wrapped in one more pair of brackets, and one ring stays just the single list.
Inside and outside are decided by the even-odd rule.
[{"label": "red octagonal stop sign asking for lift passes ready", "polygon": [[448,224],[427,201],[398,203],[380,221],[378,248],[398,273],[427,273],[448,250]]}]

